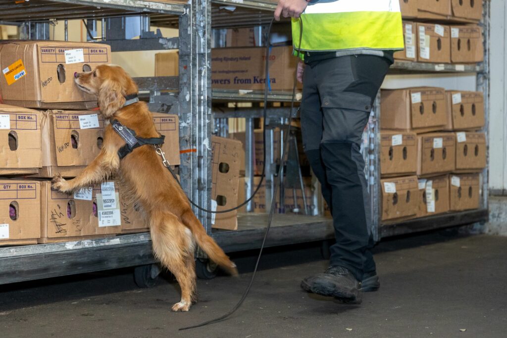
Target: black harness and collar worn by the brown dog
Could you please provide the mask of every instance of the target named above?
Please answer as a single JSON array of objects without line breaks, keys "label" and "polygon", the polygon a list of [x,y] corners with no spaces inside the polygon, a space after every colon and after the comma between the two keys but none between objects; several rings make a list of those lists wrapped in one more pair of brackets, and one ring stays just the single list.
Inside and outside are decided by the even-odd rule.
[{"label": "black harness and collar worn by the brown dog", "polygon": [[[125,96],[125,99],[126,101],[125,104],[123,105],[124,107],[139,101],[139,99],[137,98],[137,94]],[[141,145],[146,144],[162,145],[164,143],[165,135],[151,138],[139,137],[135,134],[135,131],[125,127],[123,124],[120,123],[120,121],[116,119],[110,121],[114,131],[116,131],[116,133],[120,135],[120,137],[126,142],[126,144],[118,150],[118,156],[120,157],[120,160],[123,159],[128,154],[132,153],[132,151],[135,148],[140,147]]]}]

